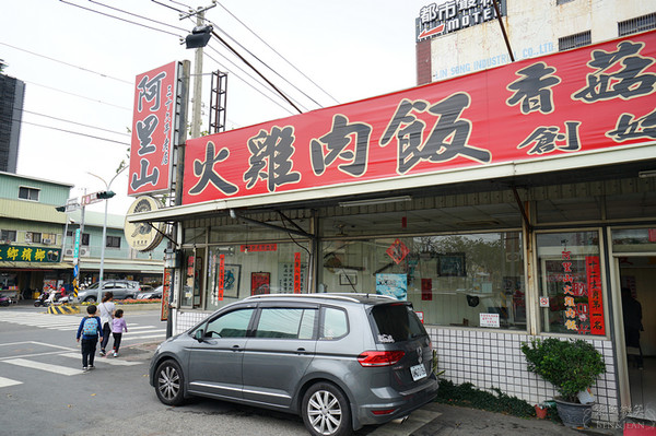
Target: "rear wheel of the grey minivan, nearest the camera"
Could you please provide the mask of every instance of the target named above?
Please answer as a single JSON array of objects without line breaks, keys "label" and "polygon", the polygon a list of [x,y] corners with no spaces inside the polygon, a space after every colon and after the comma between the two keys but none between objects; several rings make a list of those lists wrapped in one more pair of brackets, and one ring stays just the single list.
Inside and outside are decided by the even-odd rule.
[{"label": "rear wheel of the grey minivan, nearest the camera", "polygon": [[347,397],[335,385],[318,382],[303,396],[303,422],[314,436],[344,436],[353,433]]}]

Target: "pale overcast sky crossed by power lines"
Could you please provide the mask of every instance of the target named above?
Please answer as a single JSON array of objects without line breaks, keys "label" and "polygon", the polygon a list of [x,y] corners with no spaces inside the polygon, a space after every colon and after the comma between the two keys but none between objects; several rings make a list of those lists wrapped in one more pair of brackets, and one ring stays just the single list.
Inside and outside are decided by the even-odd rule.
[{"label": "pale overcast sky crossed by power lines", "polygon": [[[430,3],[427,0],[223,0],[206,16],[239,52],[249,57],[246,51],[249,50],[265,61],[271,69],[254,63],[277,86],[295,97],[304,110],[312,110],[414,86],[414,19]],[[5,74],[26,82],[17,173],[74,185],[72,197],[81,196],[84,189],[104,190],[104,182],[89,173],[109,182],[121,160],[127,161],[134,76],[174,60],[194,61],[194,50],[186,50],[179,38],[187,35],[195,21],[180,21],[174,9],[210,4],[211,0],[4,2],[0,15],[0,59],[9,66]],[[227,129],[295,114],[270,89],[255,84],[242,72],[239,69],[255,75],[216,40],[210,43],[206,55],[203,74],[230,71]],[[206,80],[202,102],[208,106],[209,101]],[[207,109],[202,119],[206,130]],[[112,184],[117,196],[109,201],[110,213],[125,214],[132,202],[127,197],[127,174],[124,172]],[[104,210],[102,204],[90,209]]]}]

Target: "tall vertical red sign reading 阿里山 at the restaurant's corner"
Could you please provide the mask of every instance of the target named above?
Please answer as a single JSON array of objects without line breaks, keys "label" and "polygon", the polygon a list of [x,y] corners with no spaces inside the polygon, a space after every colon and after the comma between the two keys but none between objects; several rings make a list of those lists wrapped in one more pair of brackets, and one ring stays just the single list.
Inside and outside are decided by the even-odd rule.
[{"label": "tall vertical red sign reading \u963f\u91cc\u5c71 at the restaurant's corner", "polygon": [[171,188],[178,63],[137,75],[128,196]]}]

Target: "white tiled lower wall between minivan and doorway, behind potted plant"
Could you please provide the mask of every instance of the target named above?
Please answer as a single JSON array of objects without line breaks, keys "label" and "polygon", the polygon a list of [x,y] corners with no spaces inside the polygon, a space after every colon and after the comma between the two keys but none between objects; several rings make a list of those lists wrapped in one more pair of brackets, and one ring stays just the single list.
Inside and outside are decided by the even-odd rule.
[{"label": "white tiled lower wall between minivan and doorway, behind potted plant", "polygon": [[[456,385],[471,382],[479,389],[499,388],[531,404],[551,400],[558,394],[553,386],[529,373],[522,353],[522,342],[534,337],[494,331],[429,328],[433,349],[437,351],[441,376]],[[587,340],[587,339],[586,339]],[[593,386],[596,404],[593,421],[618,421],[618,387],[612,343],[588,340],[604,355],[606,374]]]}]

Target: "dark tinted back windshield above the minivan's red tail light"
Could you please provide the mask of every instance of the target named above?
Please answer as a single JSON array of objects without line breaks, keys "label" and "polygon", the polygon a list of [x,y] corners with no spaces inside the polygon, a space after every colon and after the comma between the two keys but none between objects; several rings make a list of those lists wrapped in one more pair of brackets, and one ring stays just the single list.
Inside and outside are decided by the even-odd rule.
[{"label": "dark tinted back windshield above the minivan's red tail light", "polygon": [[405,304],[374,306],[372,317],[377,329],[377,342],[403,342],[426,334],[417,314]]}]

